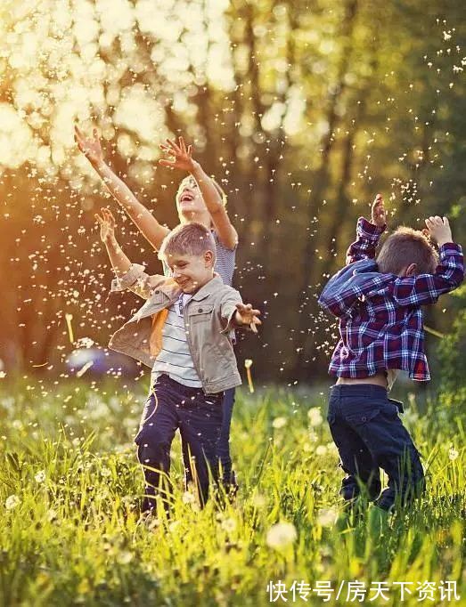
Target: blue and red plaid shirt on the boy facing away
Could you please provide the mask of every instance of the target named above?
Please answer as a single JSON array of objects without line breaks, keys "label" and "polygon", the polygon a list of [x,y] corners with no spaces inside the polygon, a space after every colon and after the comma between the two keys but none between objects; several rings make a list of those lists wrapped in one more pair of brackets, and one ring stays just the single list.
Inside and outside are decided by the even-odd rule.
[{"label": "blue and red plaid shirt on the boy facing away", "polygon": [[373,261],[385,230],[360,217],[356,242],[347,250],[347,266],[333,276],[319,304],[339,318],[339,343],[329,373],[367,377],[403,369],[412,379],[427,381],[421,305],[435,304],[464,277],[462,247],[446,243],[434,274],[400,277],[382,274]]}]

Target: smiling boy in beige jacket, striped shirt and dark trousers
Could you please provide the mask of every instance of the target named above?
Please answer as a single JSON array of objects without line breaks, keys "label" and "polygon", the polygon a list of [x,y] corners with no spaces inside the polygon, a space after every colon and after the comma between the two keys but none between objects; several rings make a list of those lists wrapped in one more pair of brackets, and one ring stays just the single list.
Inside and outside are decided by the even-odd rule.
[{"label": "smiling boy in beige jacket, striped shirt and dark trousers", "polygon": [[129,288],[147,300],[110,339],[110,348],[153,367],[156,375],[135,438],[146,481],[143,510],[151,511],[159,494],[168,503],[170,446],[178,428],[204,505],[209,468],[217,479],[224,392],[241,384],[230,331],[257,330],[260,312],[214,274],[215,241],[200,223],[180,225],[163,240],[159,256],[170,268],[167,278],[148,276],[129,261],[108,209],[96,218],[117,275],[112,290]]}]

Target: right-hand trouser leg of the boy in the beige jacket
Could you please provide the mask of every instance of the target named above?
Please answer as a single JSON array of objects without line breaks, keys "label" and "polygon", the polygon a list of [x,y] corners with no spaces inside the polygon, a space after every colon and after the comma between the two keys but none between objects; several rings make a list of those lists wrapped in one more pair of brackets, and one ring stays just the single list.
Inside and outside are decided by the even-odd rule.
[{"label": "right-hand trouser leg of the boy in the beige jacket", "polygon": [[187,457],[186,480],[194,480],[201,505],[208,499],[208,473],[217,480],[217,443],[222,425],[223,393],[205,394],[201,389],[186,388],[181,404],[180,432]]}]

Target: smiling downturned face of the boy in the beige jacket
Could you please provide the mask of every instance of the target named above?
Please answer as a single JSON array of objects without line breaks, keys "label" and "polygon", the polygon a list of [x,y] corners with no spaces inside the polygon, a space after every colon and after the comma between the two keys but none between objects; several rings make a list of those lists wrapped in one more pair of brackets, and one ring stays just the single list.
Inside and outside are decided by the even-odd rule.
[{"label": "smiling downturned face of the boy in the beige jacket", "polygon": [[202,255],[168,255],[165,261],[182,291],[195,293],[213,278],[214,259],[212,251],[206,251]]}]

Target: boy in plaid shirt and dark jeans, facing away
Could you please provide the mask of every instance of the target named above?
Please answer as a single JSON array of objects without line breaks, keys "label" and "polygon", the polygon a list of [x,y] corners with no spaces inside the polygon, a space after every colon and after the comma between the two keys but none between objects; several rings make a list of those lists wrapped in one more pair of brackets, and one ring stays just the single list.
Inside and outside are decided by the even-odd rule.
[{"label": "boy in plaid shirt and dark jeans, facing away", "polygon": [[[412,379],[429,380],[423,346],[421,305],[434,304],[463,279],[462,247],[452,242],[446,217],[426,219],[425,233],[398,228],[374,261],[385,208],[378,195],[372,223],[360,217],[357,239],[347,251],[347,267],[333,276],[319,298],[339,318],[339,344],[331,357],[328,421],[347,473],[340,494],[356,498],[364,487],[368,498],[385,511],[418,497],[424,473],[413,440],[398,417],[401,403],[388,398],[398,369]],[[438,263],[438,264],[437,264]],[[380,468],[388,488],[380,494]]]}]

